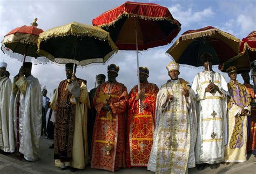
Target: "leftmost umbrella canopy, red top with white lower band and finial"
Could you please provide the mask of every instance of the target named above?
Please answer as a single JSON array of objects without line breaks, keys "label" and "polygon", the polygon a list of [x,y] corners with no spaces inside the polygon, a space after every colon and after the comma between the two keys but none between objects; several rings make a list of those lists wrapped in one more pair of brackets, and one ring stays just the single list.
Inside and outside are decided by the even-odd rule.
[{"label": "leftmost umbrella canopy, red top with white lower band and finial", "polygon": [[34,64],[46,63],[45,57],[40,57],[36,53],[38,36],[43,32],[42,29],[37,28],[36,21],[37,18],[35,18],[31,26],[17,27],[6,34],[1,47],[3,53],[19,61],[32,62]]}]

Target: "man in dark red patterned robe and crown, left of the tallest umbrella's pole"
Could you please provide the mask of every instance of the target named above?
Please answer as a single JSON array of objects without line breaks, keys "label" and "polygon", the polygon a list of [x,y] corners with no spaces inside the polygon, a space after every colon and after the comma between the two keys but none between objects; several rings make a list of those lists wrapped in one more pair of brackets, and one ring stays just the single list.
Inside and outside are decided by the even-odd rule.
[{"label": "man in dark red patterned robe and crown, left of the tallest umbrella's pole", "polygon": [[125,168],[125,111],[128,99],[124,84],[118,83],[119,67],[107,67],[108,81],[99,85],[93,105],[97,111],[93,127],[91,168],[117,171]]}]

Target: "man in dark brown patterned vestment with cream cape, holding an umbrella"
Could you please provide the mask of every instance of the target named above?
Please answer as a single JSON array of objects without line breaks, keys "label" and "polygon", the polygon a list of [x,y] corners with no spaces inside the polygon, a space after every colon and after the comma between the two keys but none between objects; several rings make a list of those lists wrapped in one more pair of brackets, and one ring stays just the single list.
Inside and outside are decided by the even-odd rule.
[{"label": "man in dark brown patterned vestment with cream cape, holding an umbrella", "polygon": [[[72,171],[84,169],[88,162],[87,108],[90,107],[86,81],[77,78],[76,65],[66,64],[66,79],[54,93],[52,110],[57,111],[54,131],[55,165]],[[72,74],[73,73],[73,74]]]}]

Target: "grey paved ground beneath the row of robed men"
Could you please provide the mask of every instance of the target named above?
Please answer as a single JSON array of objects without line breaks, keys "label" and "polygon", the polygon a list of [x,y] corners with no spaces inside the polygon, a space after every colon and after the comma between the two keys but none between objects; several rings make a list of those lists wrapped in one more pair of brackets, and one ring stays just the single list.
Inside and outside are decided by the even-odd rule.
[{"label": "grey paved ground beneath the row of robed men", "polygon": [[[53,159],[53,149],[49,149],[52,140],[45,140],[41,137],[41,159],[37,162],[28,162],[25,159],[18,161],[17,154],[0,154],[0,173],[71,173],[70,169],[60,170],[55,167]],[[254,156],[248,154],[248,161],[244,163],[231,163],[229,165],[221,164],[218,169],[212,170],[207,167],[203,171],[198,171],[196,168],[188,170],[188,173],[255,173],[256,164],[253,164]],[[76,173],[112,173],[104,170],[91,169],[89,166],[86,169],[78,170]],[[121,169],[115,173],[153,173],[147,171],[146,168]]]}]

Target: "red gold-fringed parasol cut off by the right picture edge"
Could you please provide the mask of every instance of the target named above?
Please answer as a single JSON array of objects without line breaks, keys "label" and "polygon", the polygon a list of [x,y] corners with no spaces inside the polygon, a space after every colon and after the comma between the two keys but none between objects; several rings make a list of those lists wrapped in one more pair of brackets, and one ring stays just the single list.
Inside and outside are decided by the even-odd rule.
[{"label": "red gold-fringed parasol cut off by the right picture edge", "polygon": [[251,61],[256,60],[256,31],[251,32],[240,44],[240,53],[219,65],[219,69],[226,73],[231,66],[237,68],[237,74],[251,71]]}]

